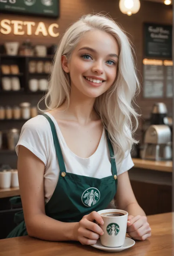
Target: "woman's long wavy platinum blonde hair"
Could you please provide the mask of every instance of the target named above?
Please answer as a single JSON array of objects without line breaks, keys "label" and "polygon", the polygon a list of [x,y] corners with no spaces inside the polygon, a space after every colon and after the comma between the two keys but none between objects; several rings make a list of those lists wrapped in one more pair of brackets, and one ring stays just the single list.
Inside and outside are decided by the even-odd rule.
[{"label": "woman's long wavy platinum blonde hair", "polygon": [[[84,15],[66,30],[54,58],[45,104],[47,111],[58,108],[65,101],[69,105],[70,76],[62,69],[61,57],[65,55],[69,59],[81,36],[95,29],[115,37],[120,50],[116,80],[108,91],[96,98],[94,109],[108,130],[116,161],[121,162],[133,143],[137,143],[132,134],[138,127],[138,114],[132,102],[139,82],[131,43],[123,29],[111,18],[100,14]],[[134,127],[132,118],[135,120]]]}]

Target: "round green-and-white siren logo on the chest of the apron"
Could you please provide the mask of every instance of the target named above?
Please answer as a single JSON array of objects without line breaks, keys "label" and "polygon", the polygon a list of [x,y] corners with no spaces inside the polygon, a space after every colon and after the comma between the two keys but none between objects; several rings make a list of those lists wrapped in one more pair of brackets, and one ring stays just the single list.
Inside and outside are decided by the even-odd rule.
[{"label": "round green-and-white siren logo on the chest of the apron", "polygon": [[95,187],[90,187],[89,189],[86,189],[81,196],[82,203],[87,207],[97,204],[99,199],[100,192]]}]

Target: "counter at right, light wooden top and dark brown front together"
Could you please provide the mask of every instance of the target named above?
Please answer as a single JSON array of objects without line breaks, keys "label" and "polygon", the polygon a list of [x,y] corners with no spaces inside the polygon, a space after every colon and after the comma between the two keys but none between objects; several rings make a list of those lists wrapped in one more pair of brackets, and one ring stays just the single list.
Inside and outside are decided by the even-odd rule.
[{"label": "counter at right, light wooden top and dark brown front together", "polygon": [[128,171],[131,186],[139,205],[147,215],[172,210],[172,161],[151,161],[133,158]]}]

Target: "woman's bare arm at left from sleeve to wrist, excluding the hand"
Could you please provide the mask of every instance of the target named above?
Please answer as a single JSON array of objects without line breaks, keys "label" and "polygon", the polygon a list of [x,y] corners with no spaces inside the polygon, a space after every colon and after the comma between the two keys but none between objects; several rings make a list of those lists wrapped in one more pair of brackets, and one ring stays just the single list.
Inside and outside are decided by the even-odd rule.
[{"label": "woman's bare arm at left from sleeve to wrist, excluding the hand", "polygon": [[18,177],[25,224],[30,236],[50,241],[76,240],[77,223],[54,220],[45,214],[44,163],[27,148],[20,146]]}]

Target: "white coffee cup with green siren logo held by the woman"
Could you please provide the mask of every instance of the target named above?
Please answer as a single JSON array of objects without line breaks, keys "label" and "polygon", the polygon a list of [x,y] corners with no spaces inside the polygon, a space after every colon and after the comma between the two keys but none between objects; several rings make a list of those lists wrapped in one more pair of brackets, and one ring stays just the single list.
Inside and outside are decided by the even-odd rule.
[{"label": "white coffee cup with green siren logo held by the woman", "polygon": [[[101,244],[106,247],[120,247],[124,244],[127,229],[127,211],[117,209],[106,209],[98,211],[104,224],[99,226],[103,229],[104,234],[100,236]],[[108,213],[108,216],[106,216]],[[121,213],[124,215],[113,216],[109,213]],[[103,215],[106,214],[106,215]],[[109,216],[111,215],[111,216]]]}]

